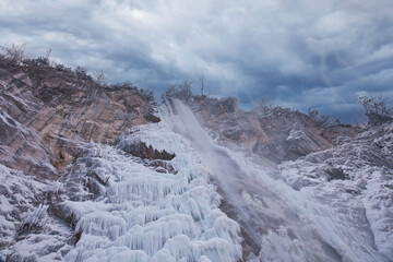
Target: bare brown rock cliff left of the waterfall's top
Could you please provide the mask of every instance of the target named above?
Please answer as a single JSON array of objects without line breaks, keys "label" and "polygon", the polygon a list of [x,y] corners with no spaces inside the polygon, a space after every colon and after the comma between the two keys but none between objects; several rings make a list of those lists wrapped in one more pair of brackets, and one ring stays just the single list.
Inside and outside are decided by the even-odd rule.
[{"label": "bare brown rock cliff left of the waterfall's top", "polygon": [[112,144],[119,134],[159,121],[138,90],[104,88],[70,72],[0,61],[0,163],[45,178],[72,163],[78,144]]}]

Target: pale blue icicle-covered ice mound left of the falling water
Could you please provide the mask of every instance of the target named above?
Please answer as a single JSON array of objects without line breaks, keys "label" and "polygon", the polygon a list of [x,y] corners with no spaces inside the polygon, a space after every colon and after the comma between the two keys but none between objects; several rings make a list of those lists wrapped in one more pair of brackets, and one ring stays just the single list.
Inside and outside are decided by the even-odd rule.
[{"label": "pale blue icicle-covered ice mound left of the falling water", "polygon": [[[157,172],[126,154],[145,143],[175,153],[177,174]],[[81,235],[66,261],[237,261],[239,225],[219,209],[219,195],[189,143],[164,121],[134,128],[117,147],[88,145],[67,176],[74,191],[63,212]],[[80,187],[86,174],[102,181],[100,196]]]}]

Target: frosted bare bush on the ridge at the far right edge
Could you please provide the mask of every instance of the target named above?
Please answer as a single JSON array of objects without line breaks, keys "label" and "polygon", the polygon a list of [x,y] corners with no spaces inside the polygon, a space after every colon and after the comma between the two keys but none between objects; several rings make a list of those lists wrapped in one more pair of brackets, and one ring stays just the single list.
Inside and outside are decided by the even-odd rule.
[{"label": "frosted bare bush on the ridge at the far right edge", "polygon": [[386,97],[360,96],[357,102],[365,108],[367,126],[376,127],[393,120],[393,108],[386,106]]}]

